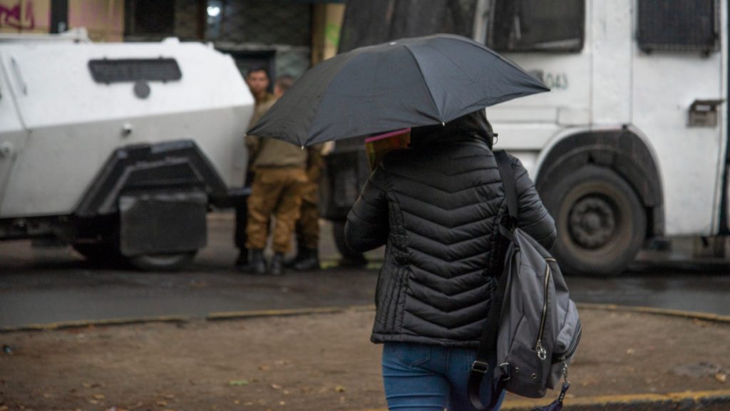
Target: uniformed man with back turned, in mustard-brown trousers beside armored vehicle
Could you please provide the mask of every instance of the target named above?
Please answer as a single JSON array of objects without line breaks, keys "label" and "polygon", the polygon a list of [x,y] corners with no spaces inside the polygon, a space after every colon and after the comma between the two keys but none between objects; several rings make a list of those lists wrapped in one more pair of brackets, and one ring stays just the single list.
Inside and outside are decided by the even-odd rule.
[{"label": "uniformed man with back turned, in mustard-brown trousers beside armored vehicle", "polygon": [[[274,88],[276,97],[281,97],[292,83],[293,79],[290,77],[277,79]],[[255,113],[254,121],[260,117],[256,114],[258,113]],[[308,181],[307,159],[316,148],[302,150],[291,143],[255,135],[246,136],[246,146],[252,159],[254,178],[247,202],[246,248],[250,261],[242,269],[250,274],[281,275],[284,254],[291,249],[291,237],[296,220],[299,219],[304,185]],[[274,257],[267,269],[264,247],[272,216],[276,220],[272,233]]]}]

